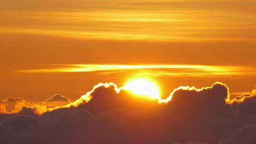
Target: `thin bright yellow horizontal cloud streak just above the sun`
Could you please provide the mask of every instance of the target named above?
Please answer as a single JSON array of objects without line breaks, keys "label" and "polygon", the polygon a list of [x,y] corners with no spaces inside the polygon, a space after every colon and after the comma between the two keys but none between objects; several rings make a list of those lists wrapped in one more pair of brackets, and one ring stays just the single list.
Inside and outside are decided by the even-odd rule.
[{"label": "thin bright yellow horizontal cloud streak just above the sun", "polygon": [[[52,68],[49,68],[52,67]],[[19,73],[77,73],[99,71],[102,74],[117,72],[120,70],[145,69],[148,73],[144,75],[172,75],[172,76],[248,76],[255,75],[254,68],[231,65],[174,65],[174,64],[54,64],[48,68],[18,70]],[[160,70],[158,70],[160,69]],[[150,71],[154,70],[154,71]],[[143,74],[142,74],[143,75]]]}]

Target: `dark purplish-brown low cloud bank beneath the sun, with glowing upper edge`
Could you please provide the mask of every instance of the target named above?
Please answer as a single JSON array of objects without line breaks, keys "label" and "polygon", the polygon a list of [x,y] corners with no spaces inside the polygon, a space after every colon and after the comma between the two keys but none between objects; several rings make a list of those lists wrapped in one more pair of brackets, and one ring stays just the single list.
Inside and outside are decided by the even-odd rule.
[{"label": "dark purplish-brown low cloud bank beneath the sun, with glowing upper edge", "polygon": [[[170,101],[159,103],[113,83],[100,83],[77,101],[42,115],[30,107],[1,114],[0,139],[3,143],[255,143],[255,96],[254,89],[230,100],[229,88],[216,82],[201,89],[177,88]],[[59,98],[67,101],[62,95],[49,100]]]}]

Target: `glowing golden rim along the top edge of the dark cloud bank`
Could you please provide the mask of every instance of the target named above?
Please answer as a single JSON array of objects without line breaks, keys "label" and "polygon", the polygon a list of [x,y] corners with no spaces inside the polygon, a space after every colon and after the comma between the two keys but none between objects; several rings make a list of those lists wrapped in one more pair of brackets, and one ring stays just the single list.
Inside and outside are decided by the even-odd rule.
[{"label": "glowing golden rim along the top edge of the dark cloud bank", "polygon": [[[189,92],[200,93],[200,92],[204,92],[204,91],[211,91],[211,89],[214,89],[216,87],[223,87],[223,89],[225,89],[224,90],[225,93],[222,93],[222,94],[224,94],[224,96],[222,97],[222,100],[225,101],[224,103],[227,105],[232,105],[234,103],[242,104],[243,101],[250,101],[249,99],[255,99],[255,96],[256,96],[255,95],[256,91],[254,89],[251,94],[241,95],[241,96],[235,97],[234,99],[230,99],[229,87],[226,86],[222,82],[215,82],[211,87],[196,88],[194,86],[193,87],[181,86],[181,87],[175,88],[166,99],[162,99],[161,96],[159,96],[157,98],[154,98],[155,100],[153,99],[153,103],[150,102],[150,104],[154,104],[154,103],[167,104],[170,101],[172,101],[173,95],[176,95],[176,93],[178,93],[180,91],[189,91]],[[25,101],[21,98],[8,98],[5,100],[0,100],[0,106],[1,106],[0,113],[19,113],[24,107],[27,107],[29,109],[33,109],[33,111],[35,113],[42,115],[44,112],[47,112],[47,111],[54,111],[57,109],[69,108],[69,107],[79,107],[80,105],[84,105],[84,104],[86,105],[87,103],[91,103],[91,99],[95,99],[94,93],[96,93],[98,89],[102,89],[102,88],[103,89],[113,89],[113,93],[115,93],[115,94],[119,94],[121,92],[121,94],[119,94],[119,95],[122,95],[126,92],[130,92],[129,89],[126,89],[124,87],[118,88],[118,86],[115,85],[113,82],[98,83],[98,85],[95,85],[91,91],[82,95],[82,97],[80,97],[79,99],[77,99],[75,101],[71,101],[67,97],[64,97],[63,95],[60,95],[60,94],[54,95],[53,97],[46,99],[45,103],[42,103],[40,105],[28,103],[27,101]],[[104,93],[103,93],[103,95],[104,95]],[[133,95],[136,95],[136,94],[133,94]],[[103,98],[108,99],[107,97],[104,97],[104,96],[103,96]],[[132,97],[132,98],[134,99],[134,101],[140,100],[139,98],[136,98],[136,97]],[[122,98],[120,98],[120,99],[122,99]],[[149,96],[146,99],[150,99]],[[101,100],[99,100],[99,101],[101,101]],[[120,100],[118,100],[118,101],[120,101]]]}]

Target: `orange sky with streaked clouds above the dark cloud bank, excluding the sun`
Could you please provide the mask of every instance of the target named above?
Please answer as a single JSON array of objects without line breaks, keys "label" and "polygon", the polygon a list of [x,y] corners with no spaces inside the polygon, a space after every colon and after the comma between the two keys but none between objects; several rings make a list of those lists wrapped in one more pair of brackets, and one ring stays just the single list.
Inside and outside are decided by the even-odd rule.
[{"label": "orange sky with streaked clouds above the dark cloud bank, excluding the sun", "polygon": [[[62,94],[75,100],[98,82],[121,87],[133,77],[156,81],[162,97],[179,86],[205,87],[216,81],[226,83],[231,95],[249,93],[256,84],[255,4],[253,0],[4,1],[0,99],[20,97],[39,103]],[[86,65],[70,69],[77,68],[74,64]],[[97,65],[96,70],[91,65]],[[107,65],[103,71],[102,65]],[[198,69],[199,65],[206,69]]]}]

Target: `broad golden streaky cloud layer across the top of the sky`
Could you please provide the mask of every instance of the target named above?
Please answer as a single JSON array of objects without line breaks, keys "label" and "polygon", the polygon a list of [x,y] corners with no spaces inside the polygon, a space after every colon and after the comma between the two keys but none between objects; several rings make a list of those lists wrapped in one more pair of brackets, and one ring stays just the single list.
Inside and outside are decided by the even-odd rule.
[{"label": "broad golden streaky cloud layer across the top of the sky", "polygon": [[76,39],[254,42],[254,5],[252,0],[9,0],[0,5],[0,19],[5,20],[0,32]]}]

